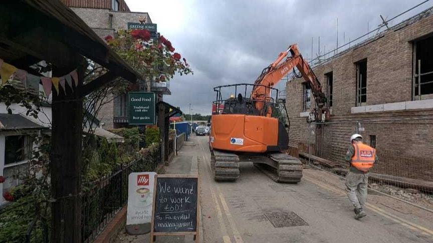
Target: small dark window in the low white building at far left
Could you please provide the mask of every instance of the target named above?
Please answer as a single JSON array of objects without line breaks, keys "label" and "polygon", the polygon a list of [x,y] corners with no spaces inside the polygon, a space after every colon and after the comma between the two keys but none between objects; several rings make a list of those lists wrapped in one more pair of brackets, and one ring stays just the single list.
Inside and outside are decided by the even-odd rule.
[{"label": "small dark window in the low white building at far left", "polygon": [[24,135],[6,136],[5,164],[26,159],[26,139]]}]

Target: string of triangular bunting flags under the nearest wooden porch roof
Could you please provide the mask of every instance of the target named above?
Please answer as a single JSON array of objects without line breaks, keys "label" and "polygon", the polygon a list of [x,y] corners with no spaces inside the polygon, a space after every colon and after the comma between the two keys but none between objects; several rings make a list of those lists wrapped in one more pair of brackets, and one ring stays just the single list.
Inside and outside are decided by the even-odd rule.
[{"label": "string of triangular bunting flags under the nearest wooden porch roof", "polygon": [[42,81],[42,86],[44,87],[44,92],[47,96],[49,96],[52,91],[52,85],[54,85],[57,93],[59,93],[60,84],[65,94],[65,83],[68,83],[72,91],[74,91],[72,81],[74,81],[75,86],[78,86],[77,69],[61,77],[36,76],[28,73],[26,70],[18,69],[17,67],[0,59],[0,77],[2,78],[2,85],[5,84],[11,78],[11,76],[13,77],[13,80],[10,82],[11,85],[19,89],[26,89],[34,94],[39,93],[39,83]]}]

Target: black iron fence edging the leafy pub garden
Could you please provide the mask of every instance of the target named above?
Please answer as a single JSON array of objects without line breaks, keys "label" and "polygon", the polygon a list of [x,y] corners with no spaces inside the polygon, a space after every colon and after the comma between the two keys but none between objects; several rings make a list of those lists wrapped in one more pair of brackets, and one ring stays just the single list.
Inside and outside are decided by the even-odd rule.
[{"label": "black iron fence edging the leafy pub garden", "polygon": [[[110,167],[108,175],[84,182],[80,193],[83,242],[92,242],[126,204],[130,173],[155,171],[161,160],[160,148],[159,144],[155,144],[139,151],[119,149],[123,153],[130,150],[128,157],[123,157],[129,158],[129,162],[119,160],[114,168]],[[42,205],[44,208],[41,208]],[[36,203],[32,196],[21,197],[0,208],[0,242],[49,242],[50,218],[50,200]]]}]

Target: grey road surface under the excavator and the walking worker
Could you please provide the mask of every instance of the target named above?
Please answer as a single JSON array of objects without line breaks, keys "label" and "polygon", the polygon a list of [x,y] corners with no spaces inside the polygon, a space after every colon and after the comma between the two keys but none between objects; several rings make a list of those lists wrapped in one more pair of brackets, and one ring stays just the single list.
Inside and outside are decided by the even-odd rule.
[{"label": "grey road surface under the excavator and the walking worker", "polygon": [[[432,213],[384,195],[370,194],[367,216],[353,218],[344,181],[304,169],[298,184],[276,183],[251,163],[236,182],[215,182],[207,136],[192,136],[166,173],[198,173],[201,179],[200,242],[433,242]],[[274,224],[268,219],[274,220]],[[303,225],[302,225],[303,224]],[[148,235],[121,233],[118,242],[147,242]],[[192,242],[181,237],[156,242]]]}]

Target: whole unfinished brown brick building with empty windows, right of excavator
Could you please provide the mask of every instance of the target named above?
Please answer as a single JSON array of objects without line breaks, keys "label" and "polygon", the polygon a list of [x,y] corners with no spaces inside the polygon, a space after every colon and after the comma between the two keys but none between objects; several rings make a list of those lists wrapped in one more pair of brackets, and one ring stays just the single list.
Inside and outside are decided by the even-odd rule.
[{"label": "whole unfinished brown brick building with empty windows, right of excavator", "polygon": [[347,166],[350,134],[359,131],[377,148],[375,172],[432,180],[433,8],[313,69],[327,94],[331,122],[309,125],[311,90],[302,78],[288,81],[289,145],[295,151],[310,149]]}]

